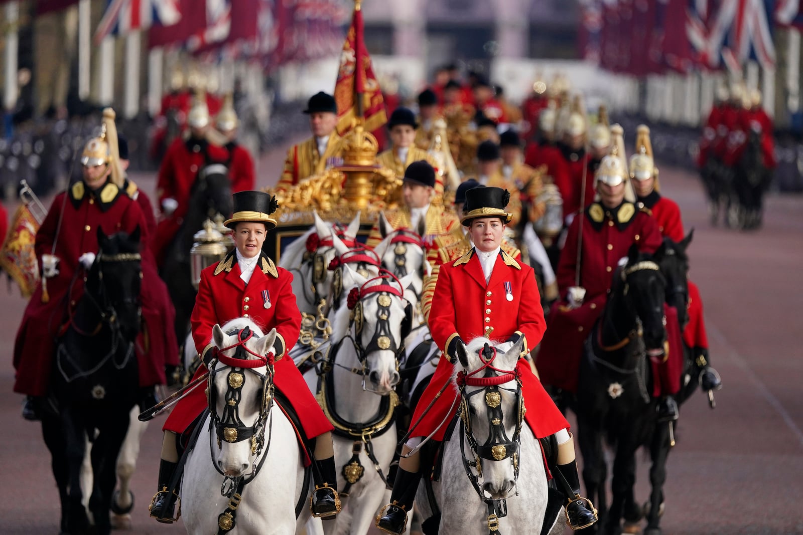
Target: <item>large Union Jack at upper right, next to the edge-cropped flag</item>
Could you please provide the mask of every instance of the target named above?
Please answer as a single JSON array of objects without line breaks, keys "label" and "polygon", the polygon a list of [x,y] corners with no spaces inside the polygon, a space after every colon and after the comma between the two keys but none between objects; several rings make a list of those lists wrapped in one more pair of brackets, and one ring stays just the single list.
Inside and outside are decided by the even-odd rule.
[{"label": "large Union Jack at upper right, next to the edge-cropped flag", "polygon": [[748,59],[756,59],[764,68],[774,67],[771,13],[768,0],[722,0],[715,9],[710,0],[691,0],[687,35],[701,63],[708,67],[724,64],[728,70],[740,72]]}]

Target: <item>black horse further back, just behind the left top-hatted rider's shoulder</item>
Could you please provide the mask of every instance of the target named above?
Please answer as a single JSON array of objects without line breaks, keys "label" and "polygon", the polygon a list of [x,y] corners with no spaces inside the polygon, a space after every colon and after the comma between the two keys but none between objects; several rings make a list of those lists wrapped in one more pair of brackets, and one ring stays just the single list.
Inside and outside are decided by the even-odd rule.
[{"label": "black horse further back, just behind the left top-hatted rider's shoulder", "polygon": [[190,249],[193,236],[202,229],[203,222],[218,213],[230,215],[233,209],[231,182],[223,164],[207,164],[198,171],[190,189],[189,209],[176,236],[167,248],[160,275],[167,284],[170,299],[176,307],[176,339],[183,342],[190,331],[190,314],[198,294],[190,273]]}]

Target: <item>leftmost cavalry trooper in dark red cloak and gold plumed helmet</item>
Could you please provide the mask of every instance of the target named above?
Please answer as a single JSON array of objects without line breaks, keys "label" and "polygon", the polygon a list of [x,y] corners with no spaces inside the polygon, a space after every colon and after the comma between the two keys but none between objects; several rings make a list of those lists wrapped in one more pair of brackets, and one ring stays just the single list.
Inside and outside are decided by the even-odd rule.
[{"label": "leftmost cavalry trooper in dark red cloak and gold plumed helmet", "polygon": [[[141,242],[148,241],[145,217],[137,201],[128,197],[122,188],[122,172],[116,167],[116,155],[112,156],[110,151],[112,145],[116,148],[116,135],[112,134],[113,118],[113,112],[105,112],[103,136],[90,140],[84,149],[81,159],[84,180],[72,184],[66,192],[55,197],[36,233],[35,251],[42,259],[43,283],[36,288],[26,306],[14,342],[14,367],[17,370],[14,391],[22,394],[47,395],[55,339],[67,319],[67,310],[75,306],[84,293],[83,278],[75,277],[76,270],[82,269],[84,262],[92,261],[92,257],[84,262],[79,259],[85,253],[95,255],[98,252],[98,229],[106,234],[132,233],[139,227]],[[115,169],[113,172],[112,168]],[[161,283],[153,266],[153,257],[146,248],[143,248],[142,270],[144,289]],[[147,306],[161,308],[161,302],[149,300],[149,295],[143,290],[143,309]],[[161,318],[145,316],[145,329],[154,347],[153,351],[141,351],[137,355],[140,385],[153,387],[165,383],[165,359],[171,355],[166,355],[162,347],[165,326]],[[177,355],[172,357],[175,364]],[[28,401],[30,403],[26,403],[23,415],[36,419],[36,403],[30,398]]]}]

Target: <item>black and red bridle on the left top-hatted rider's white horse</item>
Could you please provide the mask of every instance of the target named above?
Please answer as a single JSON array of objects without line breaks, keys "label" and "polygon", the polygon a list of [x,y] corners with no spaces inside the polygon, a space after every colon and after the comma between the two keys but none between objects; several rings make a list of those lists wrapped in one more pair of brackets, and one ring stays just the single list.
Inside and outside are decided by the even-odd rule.
[{"label": "black and red bridle on the left top-hatted rider's white horse", "polygon": [[[259,466],[256,465],[256,459],[259,458],[260,453],[266,448],[265,431],[266,428],[270,429],[271,425],[268,423],[268,417],[271,414],[271,407],[273,407],[273,393],[274,393],[274,364],[275,355],[273,352],[268,352],[267,355],[259,355],[251,351],[246,346],[246,342],[256,335],[249,327],[241,330],[232,331],[228,334],[237,334],[237,342],[227,347],[221,347],[214,351],[213,358],[209,363],[209,379],[207,383],[207,403],[210,411],[210,429],[214,427],[215,434],[218,438],[218,449],[222,448],[222,441],[225,440],[229,444],[242,442],[243,440],[251,440],[251,455],[255,456],[255,465],[252,467],[251,474],[247,476],[247,480],[251,480],[259,472],[259,467],[264,461],[260,461]],[[257,337],[258,338],[258,337]],[[223,355],[223,351],[234,349],[234,357]],[[248,359],[247,354],[252,355],[255,359]],[[216,363],[221,363],[228,367],[229,373],[226,377],[226,393],[224,400],[226,403],[223,405],[222,415],[218,415],[217,407],[217,389],[214,387],[214,379],[222,369],[215,367]],[[255,368],[265,367],[264,374],[256,371]],[[259,404],[259,416],[257,417],[254,425],[243,424],[243,420],[239,415],[239,403],[242,399],[243,385],[246,382],[246,371],[250,372],[260,383],[262,383],[262,399]],[[267,439],[267,445],[270,445],[270,435]],[[211,442],[210,442],[211,447]],[[215,469],[222,475],[223,472],[218,468],[218,465],[212,463]],[[225,496],[225,494],[224,494]]]}]

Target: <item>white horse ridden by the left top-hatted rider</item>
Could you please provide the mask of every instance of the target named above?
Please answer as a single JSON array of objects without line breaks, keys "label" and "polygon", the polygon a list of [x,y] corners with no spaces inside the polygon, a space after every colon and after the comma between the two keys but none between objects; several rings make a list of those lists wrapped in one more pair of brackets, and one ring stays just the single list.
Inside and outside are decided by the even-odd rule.
[{"label": "white horse ridden by the left top-hatted rider", "polygon": [[[250,338],[246,329],[253,333]],[[236,509],[232,535],[296,533],[310,516],[296,433],[274,407],[272,366],[253,356],[268,355],[275,337],[275,329],[263,335],[247,318],[213,328],[214,345],[229,349],[211,366],[210,415],[185,466],[181,509],[188,533],[215,533],[218,525],[232,522],[225,514],[231,514],[231,505]],[[256,367],[250,367],[254,361]],[[222,495],[234,492],[241,480],[247,483],[238,491],[239,500]]]}]

